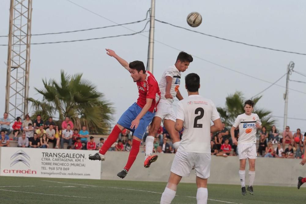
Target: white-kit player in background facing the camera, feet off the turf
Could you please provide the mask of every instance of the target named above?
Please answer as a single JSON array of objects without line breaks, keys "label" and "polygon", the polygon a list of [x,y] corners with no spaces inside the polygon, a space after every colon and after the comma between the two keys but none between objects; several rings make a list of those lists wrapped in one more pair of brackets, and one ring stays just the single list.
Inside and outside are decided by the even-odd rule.
[{"label": "white-kit player in background facing the camera, feet off the turf", "polygon": [[[233,127],[230,129],[233,144],[237,145],[238,156],[240,161],[239,177],[241,183],[241,193],[246,195],[245,189],[245,164],[246,160],[249,161],[249,186],[247,190],[250,194],[253,193],[253,183],[255,179],[255,159],[257,158],[256,152],[256,131],[261,129],[261,121],[256,113],[252,113],[254,102],[247,100],[244,102],[245,113],[239,115]],[[238,142],[234,136],[234,130],[239,126],[239,138]]]}]

